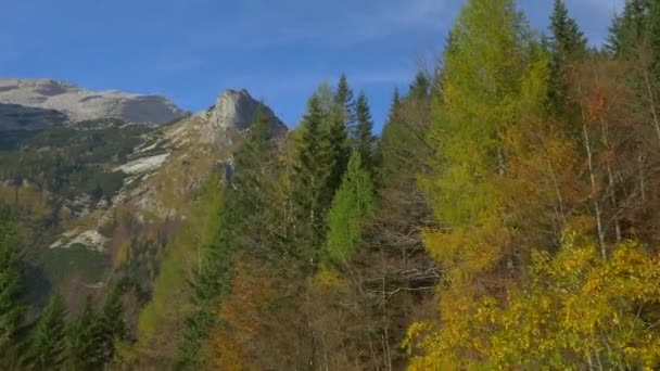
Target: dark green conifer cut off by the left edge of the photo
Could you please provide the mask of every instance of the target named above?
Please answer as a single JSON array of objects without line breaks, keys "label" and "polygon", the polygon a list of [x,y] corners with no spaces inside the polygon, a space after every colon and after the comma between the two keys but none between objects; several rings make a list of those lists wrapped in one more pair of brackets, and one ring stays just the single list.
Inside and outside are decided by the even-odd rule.
[{"label": "dark green conifer cut off by the left edge of the photo", "polygon": [[3,360],[10,358],[9,353],[23,323],[22,289],[16,227],[10,220],[9,212],[0,208],[0,359]]}]

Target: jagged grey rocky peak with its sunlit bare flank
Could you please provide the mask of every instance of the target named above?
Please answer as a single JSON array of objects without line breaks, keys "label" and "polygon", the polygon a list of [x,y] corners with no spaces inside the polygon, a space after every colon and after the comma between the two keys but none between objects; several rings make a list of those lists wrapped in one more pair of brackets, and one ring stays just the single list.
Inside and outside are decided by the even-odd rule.
[{"label": "jagged grey rocky peak with its sunlit bare flank", "polygon": [[[213,171],[231,171],[233,152],[258,110],[269,118],[274,137],[282,138],[287,127],[245,90],[227,90],[208,110],[155,129],[125,162],[113,165],[114,171],[127,176],[124,188],[109,204],[90,205],[80,225],[102,230],[115,221],[117,207],[130,209],[134,217],[148,223],[185,217],[188,202]],[[68,231],[51,247],[67,246],[79,233],[91,232]],[[93,241],[111,243],[110,239]],[[88,247],[104,248],[96,243]]]}]

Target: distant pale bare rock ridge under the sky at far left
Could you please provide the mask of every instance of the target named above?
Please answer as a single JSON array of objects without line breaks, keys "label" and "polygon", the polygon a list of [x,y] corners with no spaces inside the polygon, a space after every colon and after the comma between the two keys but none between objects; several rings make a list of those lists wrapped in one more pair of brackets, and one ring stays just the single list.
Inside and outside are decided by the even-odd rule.
[{"label": "distant pale bare rock ridge under the sky at far left", "polygon": [[[24,107],[54,110],[69,121],[118,118],[134,124],[162,125],[189,113],[167,98],[142,95],[116,90],[90,91],[73,84],[52,79],[0,79],[0,103]],[[22,121],[22,129],[40,128],[40,121]],[[0,120],[0,129],[13,129],[16,124]]]}]

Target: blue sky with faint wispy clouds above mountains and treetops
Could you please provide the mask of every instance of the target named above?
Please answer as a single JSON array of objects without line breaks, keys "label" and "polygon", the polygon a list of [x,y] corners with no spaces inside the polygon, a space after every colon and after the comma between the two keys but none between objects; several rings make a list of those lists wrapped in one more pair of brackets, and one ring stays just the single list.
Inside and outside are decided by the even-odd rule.
[{"label": "blue sky with faint wispy clouds above mountains and treetops", "polygon": [[[624,0],[567,0],[593,44]],[[547,28],[551,0],[519,0]],[[442,49],[462,0],[0,0],[0,76],[161,93],[199,111],[246,88],[295,126],[322,80],[364,89],[380,127],[395,86]]]}]

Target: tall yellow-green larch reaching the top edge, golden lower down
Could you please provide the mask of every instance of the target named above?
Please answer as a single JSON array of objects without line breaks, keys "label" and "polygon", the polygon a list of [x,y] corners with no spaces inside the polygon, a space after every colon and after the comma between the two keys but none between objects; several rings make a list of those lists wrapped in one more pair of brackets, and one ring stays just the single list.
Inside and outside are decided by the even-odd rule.
[{"label": "tall yellow-green larch reaching the top edge, golden lower down", "polygon": [[428,231],[424,242],[445,274],[437,336],[455,334],[468,344],[475,340],[465,314],[481,297],[504,292],[524,256],[513,247],[516,219],[506,214],[503,183],[515,155],[508,136],[543,103],[523,97],[526,80],[543,64],[530,64],[534,40],[509,0],[469,1],[452,36],[429,137],[433,172],[422,180],[440,228]]}]

